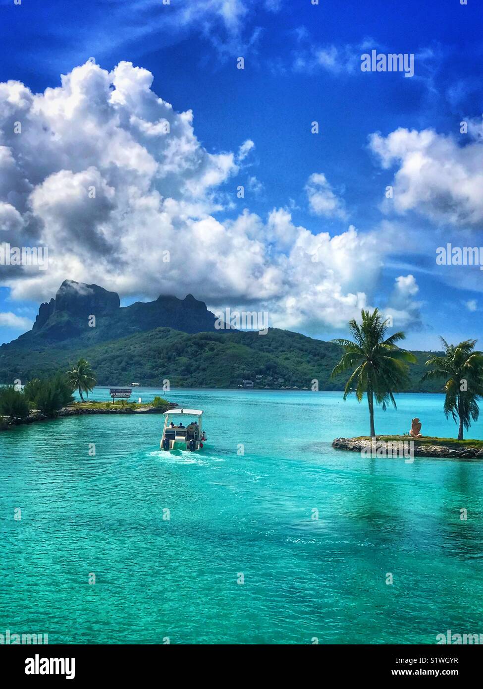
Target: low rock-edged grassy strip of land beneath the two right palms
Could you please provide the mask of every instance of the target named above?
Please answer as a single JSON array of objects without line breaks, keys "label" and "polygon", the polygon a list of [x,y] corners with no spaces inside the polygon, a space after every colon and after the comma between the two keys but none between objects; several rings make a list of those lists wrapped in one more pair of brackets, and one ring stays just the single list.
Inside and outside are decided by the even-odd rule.
[{"label": "low rock-edged grassy strip of land beneath the two right palms", "polygon": [[431,442],[433,438],[424,440],[414,440],[407,436],[398,436],[393,440],[380,440],[376,437],[376,442],[373,439],[366,440],[364,438],[336,438],[333,440],[332,447],[336,450],[347,450],[349,452],[367,451],[378,456],[377,451],[383,457],[393,456],[394,443],[409,443],[413,440],[413,451],[415,457],[441,457],[444,459],[460,459],[460,460],[483,460],[483,446],[472,446],[460,443],[435,444]]}]

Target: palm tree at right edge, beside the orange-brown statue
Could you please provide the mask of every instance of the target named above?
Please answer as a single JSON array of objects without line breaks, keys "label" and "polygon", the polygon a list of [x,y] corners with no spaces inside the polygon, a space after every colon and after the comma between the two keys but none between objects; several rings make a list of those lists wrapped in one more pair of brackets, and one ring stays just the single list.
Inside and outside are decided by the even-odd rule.
[{"label": "palm tree at right edge, beside the orange-brown statue", "polygon": [[480,415],[478,402],[483,397],[483,352],[475,351],[476,340],[464,340],[459,345],[449,345],[440,338],[444,347],[444,356],[431,356],[427,366],[430,371],[424,373],[421,380],[446,378],[444,383],[444,413],[451,416],[455,423],[460,422],[458,440],[463,440],[463,426],[466,430],[471,421],[477,421]]}]

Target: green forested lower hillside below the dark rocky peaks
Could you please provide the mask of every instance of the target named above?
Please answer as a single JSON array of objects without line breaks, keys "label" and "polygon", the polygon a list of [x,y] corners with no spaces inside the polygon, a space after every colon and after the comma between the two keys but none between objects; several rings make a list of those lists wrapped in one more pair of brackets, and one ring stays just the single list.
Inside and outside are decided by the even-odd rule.
[{"label": "green forested lower hillside below the dark rocky peaks", "polygon": [[[407,391],[441,392],[442,383],[420,382],[429,352],[413,352]],[[50,347],[29,351],[6,345],[0,350],[0,382],[29,380],[66,371],[71,361],[88,359],[99,385],[129,386],[132,381],[161,387],[238,387],[253,380],[256,388],[298,387],[343,390],[342,376],[331,371],[342,354],[333,342],[300,333],[269,329],[267,335],[228,331],[183,333],[157,328],[93,347]]]}]

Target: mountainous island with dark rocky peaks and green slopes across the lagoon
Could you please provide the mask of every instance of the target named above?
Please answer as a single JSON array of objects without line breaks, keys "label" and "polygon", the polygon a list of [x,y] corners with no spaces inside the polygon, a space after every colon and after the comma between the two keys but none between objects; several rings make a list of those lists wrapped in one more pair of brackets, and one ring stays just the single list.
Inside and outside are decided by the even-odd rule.
[{"label": "mountainous island with dark rocky peaks and green slopes across the lagoon", "polygon": [[[167,379],[172,387],[238,387],[248,380],[256,388],[311,389],[318,380],[320,390],[343,389],[345,377],[330,379],[338,345],[274,328],[220,331],[215,319],[191,294],[121,307],[115,292],[65,280],[32,330],[0,347],[0,383],[65,371],[83,357],[101,385],[160,387]],[[438,381],[420,382],[429,353],[414,354],[407,390],[440,391]]]}]

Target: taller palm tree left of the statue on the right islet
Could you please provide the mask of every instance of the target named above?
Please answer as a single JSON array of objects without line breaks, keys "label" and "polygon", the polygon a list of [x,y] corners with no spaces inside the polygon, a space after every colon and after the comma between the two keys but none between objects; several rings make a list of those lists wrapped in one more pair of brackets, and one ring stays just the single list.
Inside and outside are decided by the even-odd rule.
[{"label": "taller palm tree left of the statue on the right islet", "polygon": [[369,405],[369,419],[371,422],[371,438],[376,435],[374,430],[374,399],[382,409],[387,409],[387,402],[391,401],[395,407],[393,393],[398,392],[408,381],[408,363],[414,364],[416,358],[411,352],[399,349],[396,342],[404,340],[404,333],[398,332],[385,338],[386,320],[378,309],[372,313],[361,311],[362,323],[358,325],[354,319],[349,322],[349,329],[353,340],[332,340],[344,348],[340,362],[334,367],[331,378],[347,369],[355,369],[346,383],[344,399],[351,392],[356,392],[358,402],[367,393]]}]

